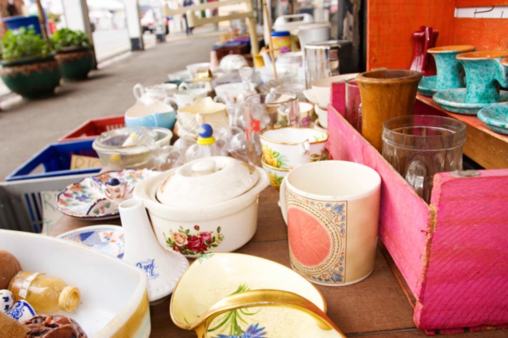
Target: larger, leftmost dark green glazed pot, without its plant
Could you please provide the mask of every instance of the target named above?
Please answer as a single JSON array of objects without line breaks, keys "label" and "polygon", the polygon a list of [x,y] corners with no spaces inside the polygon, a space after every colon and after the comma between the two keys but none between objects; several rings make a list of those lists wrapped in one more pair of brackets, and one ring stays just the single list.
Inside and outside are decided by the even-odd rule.
[{"label": "larger, leftmost dark green glazed pot, without its plant", "polygon": [[0,74],[6,86],[24,97],[50,95],[60,83],[60,67],[53,55],[1,63]]}]

